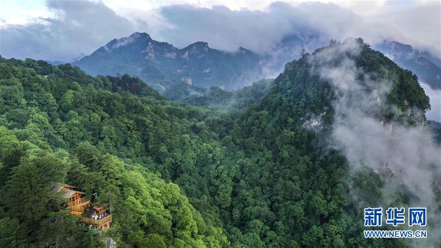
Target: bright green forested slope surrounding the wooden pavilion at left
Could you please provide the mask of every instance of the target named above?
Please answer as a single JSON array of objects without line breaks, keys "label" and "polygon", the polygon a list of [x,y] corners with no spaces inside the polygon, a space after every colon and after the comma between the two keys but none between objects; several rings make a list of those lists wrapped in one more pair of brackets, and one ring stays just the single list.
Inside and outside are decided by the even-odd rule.
[{"label": "bright green forested slope surrounding the wooden pavilion at left", "polygon": [[1,247],[100,245],[77,218],[51,210],[52,181],[111,201],[109,235],[123,247],[228,245],[217,216],[203,218],[159,177],[216,163],[216,135],[200,122],[208,110],[164,101],[126,75],[92,77],[30,59],[1,58],[0,67]]}]

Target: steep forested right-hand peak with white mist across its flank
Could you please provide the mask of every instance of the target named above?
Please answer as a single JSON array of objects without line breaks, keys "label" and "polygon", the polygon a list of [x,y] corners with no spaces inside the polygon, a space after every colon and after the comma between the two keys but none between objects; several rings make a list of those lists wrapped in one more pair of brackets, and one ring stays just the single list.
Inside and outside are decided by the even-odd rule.
[{"label": "steep forested right-hand peak with white mist across its flank", "polygon": [[[394,156],[417,157],[418,144],[400,145],[417,139],[398,137],[420,130],[413,126],[421,124],[418,113],[428,107],[413,74],[361,39],[331,43],[288,63],[268,95],[235,122],[231,138],[224,138],[244,152],[233,177],[231,206],[241,215],[232,225],[258,230],[262,243],[253,247],[412,246],[406,240],[363,238],[360,218],[363,207],[415,199],[418,192],[406,192],[412,182],[391,186],[388,180],[399,175],[382,165],[401,161],[394,166],[403,174],[407,166],[418,166]],[[431,166],[439,158],[433,161]],[[240,239],[231,242],[234,246]]]}]

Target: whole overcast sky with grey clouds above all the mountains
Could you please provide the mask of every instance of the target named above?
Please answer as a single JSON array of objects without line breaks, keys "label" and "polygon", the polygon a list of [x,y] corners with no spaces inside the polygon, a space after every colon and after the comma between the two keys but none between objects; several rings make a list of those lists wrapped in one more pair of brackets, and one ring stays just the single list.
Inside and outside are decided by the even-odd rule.
[{"label": "whole overcast sky with grey clouds above all the mountains", "polygon": [[441,1],[0,1],[0,54],[73,61],[147,32],[178,48],[265,52],[288,34],[411,44],[439,56]]}]

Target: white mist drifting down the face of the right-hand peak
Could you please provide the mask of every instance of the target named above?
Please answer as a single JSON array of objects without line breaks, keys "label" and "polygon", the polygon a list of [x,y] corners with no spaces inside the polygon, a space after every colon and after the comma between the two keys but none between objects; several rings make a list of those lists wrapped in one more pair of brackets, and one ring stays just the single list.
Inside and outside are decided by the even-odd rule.
[{"label": "white mist drifting down the face of the right-hand peak", "polygon": [[[343,152],[352,172],[368,167],[379,174],[392,197],[405,186],[417,199],[410,202],[410,206],[427,207],[427,228],[433,228],[427,242],[433,242],[430,238],[437,238],[436,233],[440,233],[440,213],[433,185],[440,183],[437,174],[441,148],[424,126],[423,112],[409,109],[403,113],[386,104],[392,82],[357,68],[354,58],[360,49],[354,40],[347,39],[340,46],[309,56],[309,62],[314,65],[313,73],[328,81],[337,96],[332,103],[335,112],[331,147]],[[385,120],[381,114],[385,111],[393,113],[394,118]],[[402,115],[417,124],[399,122],[398,117]],[[385,208],[392,203],[381,204]]]}]

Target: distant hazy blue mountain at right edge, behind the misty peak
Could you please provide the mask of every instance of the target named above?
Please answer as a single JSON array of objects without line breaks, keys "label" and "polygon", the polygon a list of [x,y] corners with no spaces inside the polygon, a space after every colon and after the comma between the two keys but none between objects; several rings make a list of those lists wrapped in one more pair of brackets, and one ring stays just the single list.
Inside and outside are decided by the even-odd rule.
[{"label": "distant hazy blue mountain at right edge, behind the misty peak", "polygon": [[417,74],[419,79],[433,89],[441,89],[441,60],[428,52],[420,52],[410,45],[395,41],[384,41],[375,48],[402,68]]}]

